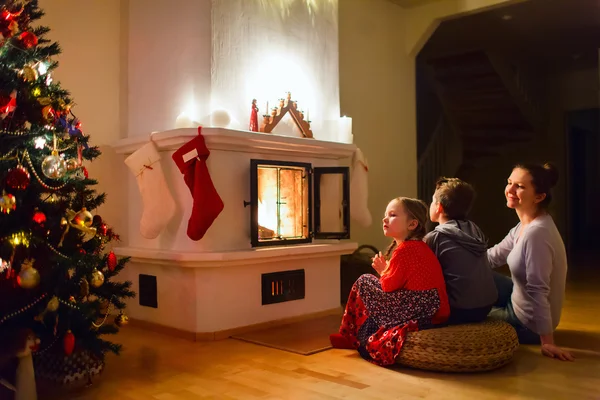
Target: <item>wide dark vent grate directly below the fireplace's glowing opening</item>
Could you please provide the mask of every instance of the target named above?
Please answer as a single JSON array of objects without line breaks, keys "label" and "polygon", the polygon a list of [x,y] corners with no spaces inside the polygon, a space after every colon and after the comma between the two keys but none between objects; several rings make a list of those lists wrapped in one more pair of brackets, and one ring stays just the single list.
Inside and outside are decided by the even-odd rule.
[{"label": "wide dark vent grate directly below the fireplace's glowing opening", "polygon": [[303,269],[262,274],[262,304],[303,299],[305,288]]}]

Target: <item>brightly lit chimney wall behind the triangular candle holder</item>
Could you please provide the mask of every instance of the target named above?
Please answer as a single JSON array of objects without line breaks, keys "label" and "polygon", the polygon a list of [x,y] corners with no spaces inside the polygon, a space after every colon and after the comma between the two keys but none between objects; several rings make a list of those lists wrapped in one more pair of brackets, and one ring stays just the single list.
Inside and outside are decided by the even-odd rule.
[{"label": "brightly lit chimney wall behind the triangular candle holder", "polygon": [[340,117],[337,0],[311,4],[213,1],[211,107],[229,110],[236,127],[248,129],[252,99],[262,114],[289,91],[315,137],[336,139],[320,126]]}]

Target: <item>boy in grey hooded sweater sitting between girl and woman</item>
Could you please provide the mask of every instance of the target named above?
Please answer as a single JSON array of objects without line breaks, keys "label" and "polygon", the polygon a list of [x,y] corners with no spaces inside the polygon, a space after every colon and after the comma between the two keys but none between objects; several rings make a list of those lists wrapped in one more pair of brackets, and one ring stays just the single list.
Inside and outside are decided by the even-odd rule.
[{"label": "boy in grey hooded sweater sitting between girl and woman", "polygon": [[449,324],[483,321],[497,300],[487,259],[487,239],[467,220],[475,190],[458,178],[440,178],[435,186],[429,217],[439,225],[425,236],[446,281],[450,302]]}]

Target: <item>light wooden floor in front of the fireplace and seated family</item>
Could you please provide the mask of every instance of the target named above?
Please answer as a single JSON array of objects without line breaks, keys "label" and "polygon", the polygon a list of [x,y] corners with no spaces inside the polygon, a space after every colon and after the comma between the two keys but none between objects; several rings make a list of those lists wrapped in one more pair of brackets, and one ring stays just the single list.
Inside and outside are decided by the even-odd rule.
[{"label": "light wooden floor in front of the fireplace and seated family", "polygon": [[[600,263],[598,263],[600,269]],[[76,399],[600,399],[600,273],[570,271],[558,341],[574,363],[521,346],[512,364],[472,375],[385,369],[355,352],[301,356],[237,340],[192,343],[127,327],[120,357]],[[41,396],[41,398],[49,398]]]}]

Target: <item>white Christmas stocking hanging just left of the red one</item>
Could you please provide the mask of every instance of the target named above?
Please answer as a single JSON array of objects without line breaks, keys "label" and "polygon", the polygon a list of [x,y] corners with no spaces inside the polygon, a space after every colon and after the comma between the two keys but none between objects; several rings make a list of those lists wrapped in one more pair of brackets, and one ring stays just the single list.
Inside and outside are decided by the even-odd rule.
[{"label": "white Christmas stocking hanging just left of the red one", "polygon": [[148,142],[125,159],[125,164],[135,175],[142,196],[143,212],[140,233],[154,239],[165,229],[175,215],[175,200],[167,186],[160,164],[160,154],[154,142]]}]

